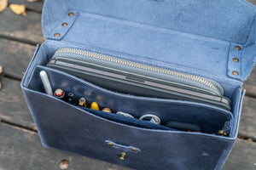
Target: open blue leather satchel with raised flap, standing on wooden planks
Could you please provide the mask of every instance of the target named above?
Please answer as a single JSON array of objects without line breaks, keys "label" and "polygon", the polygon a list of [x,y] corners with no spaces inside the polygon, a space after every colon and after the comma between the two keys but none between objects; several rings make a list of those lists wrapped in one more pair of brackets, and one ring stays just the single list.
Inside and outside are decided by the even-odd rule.
[{"label": "open blue leather satchel with raised flap, standing on wooden planks", "polygon": [[[243,0],[46,0],[47,39],[21,82],[42,144],[134,169],[221,169],[238,133],[242,83],[256,61],[255,16],[256,8]],[[231,110],[100,88],[47,67],[59,48],[93,50],[212,79],[224,88]],[[207,131],[175,131],[70,105],[44,93],[39,71],[47,72],[54,89],[136,116],[154,113],[166,122],[194,122]],[[223,124],[228,134],[217,135]]]}]

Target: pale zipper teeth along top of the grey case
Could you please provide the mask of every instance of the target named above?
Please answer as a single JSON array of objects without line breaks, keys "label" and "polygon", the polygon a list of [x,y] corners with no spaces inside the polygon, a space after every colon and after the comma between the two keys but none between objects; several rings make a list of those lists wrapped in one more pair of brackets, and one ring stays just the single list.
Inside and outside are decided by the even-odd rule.
[{"label": "pale zipper teeth along top of the grey case", "polygon": [[207,87],[215,89],[219,92],[218,88],[212,82],[209,82],[209,81],[207,81],[206,79],[204,79],[202,77],[197,77],[197,76],[189,75],[189,74],[182,73],[182,72],[170,71],[170,70],[162,69],[162,68],[159,68],[159,67],[144,65],[144,64],[133,62],[133,61],[128,61],[128,60],[125,60],[125,59],[118,59],[118,58],[115,58],[115,57],[111,57],[109,55],[97,54],[97,53],[94,53],[94,52],[81,50],[81,49],[76,49],[76,48],[61,48],[61,49],[58,49],[55,52],[55,54],[58,54],[58,53],[72,53],[72,54],[86,55],[86,56],[89,56],[89,57],[93,57],[95,59],[103,59],[103,60],[107,60],[107,61],[111,61],[111,62],[114,62],[114,63],[121,64],[121,65],[129,65],[129,66],[132,66],[132,67],[137,67],[139,69],[160,72],[160,73],[164,73],[164,74],[167,74],[167,75],[172,75],[172,76],[175,76],[175,77],[182,77],[182,78],[192,80],[192,81],[195,81],[195,82],[201,82],[202,84],[206,85]]}]

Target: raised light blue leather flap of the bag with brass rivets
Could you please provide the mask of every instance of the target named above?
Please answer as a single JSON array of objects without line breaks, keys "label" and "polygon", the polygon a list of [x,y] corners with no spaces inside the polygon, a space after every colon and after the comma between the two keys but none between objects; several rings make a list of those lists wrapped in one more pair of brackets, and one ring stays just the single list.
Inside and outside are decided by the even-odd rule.
[{"label": "raised light blue leather flap of the bag with brass rivets", "polygon": [[42,27],[49,39],[244,81],[255,64],[255,16],[244,0],[46,0]]}]

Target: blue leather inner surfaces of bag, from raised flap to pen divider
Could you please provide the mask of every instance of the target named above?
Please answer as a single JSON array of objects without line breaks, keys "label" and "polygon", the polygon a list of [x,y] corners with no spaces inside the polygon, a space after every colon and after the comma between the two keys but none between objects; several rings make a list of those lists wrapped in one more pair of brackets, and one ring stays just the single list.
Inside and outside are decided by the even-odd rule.
[{"label": "blue leather inner surfaces of bag, from raised flap to pen divider", "polygon": [[[255,62],[255,16],[255,8],[243,0],[45,1],[42,27],[47,40],[32,59],[22,85],[38,93],[44,92],[38,78],[38,71],[43,69],[55,80],[53,82],[58,82],[53,85],[55,88],[66,80],[73,87],[83,84],[93,91],[99,90],[108,100],[113,96],[111,99],[115,104],[122,99],[130,101],[127,107],[113,106],[114,111],[121,109],[138,117],[137,114],[149,108],[148,112],[160,114],[165,121],[198,123],[207,133],[216,133],[227,121],[231,127],[230,138],[234,138],[241,111],[242,82],[253,70]],[[56,33],[59,33],[58,37]],[[93,50],[210,78],[222,85],[232,109],[224,111],[196,102],[141,99],[110,92],[86,80],[44,67],[58,48]],[[234,58],[240,62],[234,62]],[[234,75],[233,71],[239,74]],[[149,105],[152,103],[156,106]]]}]

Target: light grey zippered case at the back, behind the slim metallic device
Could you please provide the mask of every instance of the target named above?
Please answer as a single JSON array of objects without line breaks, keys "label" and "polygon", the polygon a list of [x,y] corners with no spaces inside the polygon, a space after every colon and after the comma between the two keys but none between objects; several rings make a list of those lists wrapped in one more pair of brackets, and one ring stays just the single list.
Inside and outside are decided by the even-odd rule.
[{"label": "light grey zippered case at the back, behind the slim metallic device", "polygon": [[207,91],[209,94],[223,95],[224,89],[211,79],[203,77],[195,77],[182,72],[165,70],[160,67],[151,65],[143,65],[132,62],[130,60],[119,59],[118,57],[106,54],[98,54],[96,52],[76,49],[76,48],[60,48],[55,52],[52,59],[67,60],[69,62],[78,63],[79,65],[94,66],[97,69],[109,70],[112,72],[124,72],[126,74],[141,75],[142,77],[151,77],[163,82],[172,82],[173,86],[183,88],[199,88]]}]

